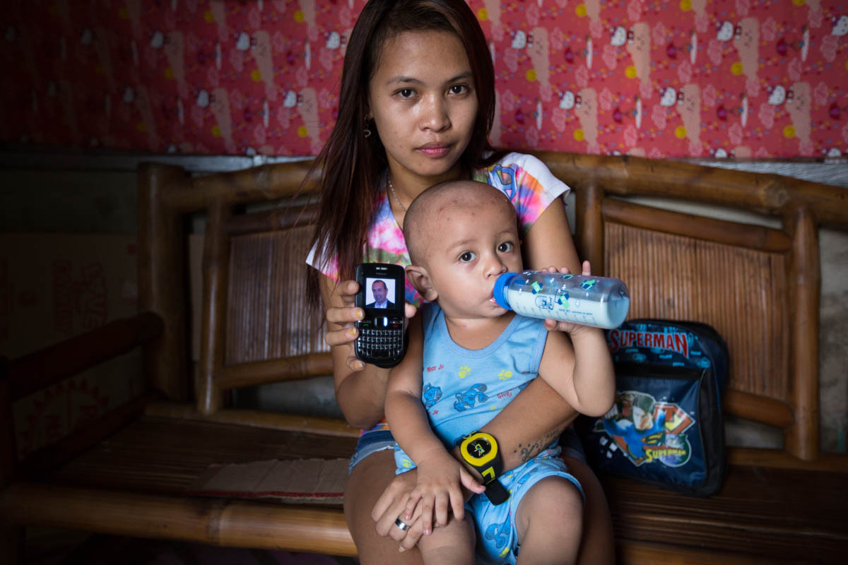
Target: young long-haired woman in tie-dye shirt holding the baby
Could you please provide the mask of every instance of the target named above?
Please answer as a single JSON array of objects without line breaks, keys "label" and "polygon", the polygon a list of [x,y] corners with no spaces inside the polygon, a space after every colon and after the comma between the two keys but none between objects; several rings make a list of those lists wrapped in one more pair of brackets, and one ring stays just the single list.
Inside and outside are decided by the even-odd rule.
[{"label": "young long-haired woman in tie-dye shirt holding the baby", "polygon": [[[494,153],[487,140],[493,120],[494,68],[463,0],[371,0],[363,8],[345,54],[338,121],[317,161],[323,167],[321,212],[308,262],[316,269],[310,287],[321,289],[326,308],[338,405],[349,424],[365,430],[344,496],[365,565],[420,563],[417,550],[406,550],[422,531],[420,520],[403,529],[397,522],[415,472],[394,475],[394,442],[383,419],[388,369],[361,363],[352,348],[354,322],[364,315],[354,307],[356,264],[408,265],[400,226],[410,202],[442,180],[474,178],[511,196],[528,268],[580,269],[560,199],[568,188],[538,159]],[[409,285],[407,301],[420,301]],[[414,313],[408,306],[407,315]],[[547,327],[557,326],[550,321]],[[536,455],[576,415],[536,379],[483,430],[498,440],[510,469]],[[569,437],[576,440],[566,433],[564,446]],[[564,454],[586,493],[580,560],[612,562],[612,525],[600,483],[580,451],[566,446]]]}]

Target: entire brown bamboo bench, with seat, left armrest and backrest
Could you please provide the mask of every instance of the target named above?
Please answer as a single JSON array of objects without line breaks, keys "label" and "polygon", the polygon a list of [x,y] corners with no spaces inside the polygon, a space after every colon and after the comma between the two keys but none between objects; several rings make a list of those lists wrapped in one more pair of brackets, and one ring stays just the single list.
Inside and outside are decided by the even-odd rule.
[{"label": "entire brown bamboo bench, with seat, left armrest and backrest", "polygon": [[[848,191],[642,158],[538,156],[576,192],[580,254],[627,281],[630,316],[716,327],[732,357],[726,413],[784,430],[782,449],[730,449],[725,485],[711,498],[604,479],[620,561],[844,558],[848,458],[819,451],[817,228],[848,230]],[[226,402],[232,389],[332,372],[321,316],[304,305],[310,208],[245,211],[251,203],[289,202],[308,167],[196,178],[174,166],[139,169],[140,313],[0,363],[5,562],[23,562],[22,531],[36,525],[355,555],[340,507],[187,494],[210,464],[348,457],[354,449],[358,431],[341,421]],[[780,227],[633,197],[734,208]],[[207,224],[200,359],[192,368],[185,225],[196,213]],[[143,351],[144,395],[18,461],[14,401],[135,346]]]}]

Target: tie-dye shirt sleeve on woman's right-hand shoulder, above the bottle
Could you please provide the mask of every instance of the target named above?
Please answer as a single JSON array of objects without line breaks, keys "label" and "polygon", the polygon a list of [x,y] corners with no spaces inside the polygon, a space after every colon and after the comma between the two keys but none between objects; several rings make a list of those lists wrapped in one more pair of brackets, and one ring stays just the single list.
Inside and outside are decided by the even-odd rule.
[{"label": "tie-dye shirt sleeve on woman's right-hand shoulder, above the bottle", "polygon": [[516,207],[522,235],[527,234],[551,202],[571,190],[538,158],[516,152],[478,171],[475,180],[486,182],[509,197]]}]

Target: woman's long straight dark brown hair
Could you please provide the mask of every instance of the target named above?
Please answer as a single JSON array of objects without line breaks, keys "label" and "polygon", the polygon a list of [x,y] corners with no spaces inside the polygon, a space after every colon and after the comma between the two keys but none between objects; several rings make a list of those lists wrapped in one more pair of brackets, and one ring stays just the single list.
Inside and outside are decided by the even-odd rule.
[{"label": "woman's long straight dark brown hair", "polygon": [[[365,137],[371,76],[380,62],[383,44],[404,31],[439,30],[455,33],[466,49],[474,88],[477,119],[460,165],[483,167],[498,158],[488,144],[494,121],[494,66],[486,37],[464,0],[371,0],[362,9],[344,56],[338,119],[330,139],[315,160],[321,166],[321,205],[315,226],[315,266],[333,257],[340,280],[353,278],[363,259],[365,235],[371,224],[381,175],[388,166],[379,136]],[[371,130],[374,130],[371,125]],[[484,158],[488,155],[488,158]],[[320,297],[320,274],[309,269],[310,302]]]}]

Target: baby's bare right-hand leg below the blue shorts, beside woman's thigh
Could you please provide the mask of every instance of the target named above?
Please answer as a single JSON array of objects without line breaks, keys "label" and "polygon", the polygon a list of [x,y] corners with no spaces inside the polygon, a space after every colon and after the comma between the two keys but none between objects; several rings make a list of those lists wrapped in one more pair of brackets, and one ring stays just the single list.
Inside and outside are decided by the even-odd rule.
[{"label": "baby's bare right-hand leg below the blue shorts, beside woman's thigh", "polygon": [[583,530],[583,497],[562,477],[546,477],[530,487],[518,505],[517,562],[571,565],[577,561]]}]

